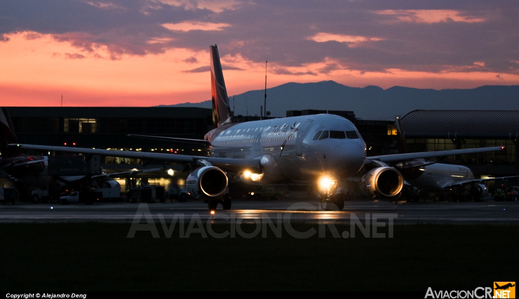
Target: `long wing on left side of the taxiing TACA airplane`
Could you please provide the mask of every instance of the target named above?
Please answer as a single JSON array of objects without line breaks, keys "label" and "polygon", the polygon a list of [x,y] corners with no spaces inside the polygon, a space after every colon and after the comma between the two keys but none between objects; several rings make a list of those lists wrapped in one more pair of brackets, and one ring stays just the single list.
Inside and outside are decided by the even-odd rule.
[{"label": "long wing on left side of the taxiing TACA airplane", "polygon": [[160,160],[160,161],[176,162],[176,163],[194,163],[197,160],[205,160],[205,161],[209,162],[211,165],[220,167],[223,170],[241,171],[244,169],[248,169],[252,173],[261,173],[262,172],[262,169],[260,166],[260,160],[242,160],[242,159],[213,158],[213,157],[190,156],[190,155],[179,155],[179,154],[86,149],[86,148],[71,148],[71,147],[59,147],[59,146],[39,146],[39,145],[27,145],[27,144],[10,144],[9,146],[16,146],[16,147],[20,147],[23,149],[35,149],[35,150],[44,150],[44,151],[52,150],[52,151],[61,151],[61,152],[103,155],[103,156],[118,156],[121,158],[132,158],[132,159],[152,159],[152,160]]}]

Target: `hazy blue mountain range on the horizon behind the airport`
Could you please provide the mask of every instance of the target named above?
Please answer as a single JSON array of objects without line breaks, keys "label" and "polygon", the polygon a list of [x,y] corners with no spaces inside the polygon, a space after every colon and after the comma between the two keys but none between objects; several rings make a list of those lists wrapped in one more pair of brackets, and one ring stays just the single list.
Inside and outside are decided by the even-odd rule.
[{"label": "hazy blue mountain range on the horizon behind the airport", "polygon": [[[235,115],[260,115],[265,90],[230,96]],[[234,97],[234,104],[233,104]],[[161,105],[165,106],[165,105]],[[211,108],[211,101],[169,107]],[[416,109],[425,110],[519,110],[519,86],[482,86],[474,89],[417,89],[377,86],[348,87],[335,81],[285,83],[267,89],[270,116],[284,117],[286,110],[347,110],[357,118],[393,120]]]}]

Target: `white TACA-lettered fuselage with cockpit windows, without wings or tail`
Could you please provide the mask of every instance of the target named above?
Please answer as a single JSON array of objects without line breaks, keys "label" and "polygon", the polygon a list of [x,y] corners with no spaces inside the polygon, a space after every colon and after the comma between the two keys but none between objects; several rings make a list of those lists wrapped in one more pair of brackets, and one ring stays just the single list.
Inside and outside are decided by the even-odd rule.
[{"label": "white TACA-lettered fuselage with cockpit windows, without wings or tail", "polygon": [[349,120],[311,115],[228,124],[206,135],[209,154],[257,159],[263,173],[251,183],[308,183],[327,175],[343,179],[364,165],[365,143]]}]

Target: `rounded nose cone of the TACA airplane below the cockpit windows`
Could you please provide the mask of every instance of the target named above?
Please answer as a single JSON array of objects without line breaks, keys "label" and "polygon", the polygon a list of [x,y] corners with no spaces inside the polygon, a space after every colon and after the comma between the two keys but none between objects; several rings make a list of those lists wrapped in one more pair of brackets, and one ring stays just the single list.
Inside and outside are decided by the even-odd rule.
[{"label": "rounded nose cone of the TACA airplane below the cockpit windows", "polygon": [[333,166],[330,166],[335,168],[335,173],[350,177],[364,166],[364,147],[358,143],[340,145],[335,149],[332,159]]}]

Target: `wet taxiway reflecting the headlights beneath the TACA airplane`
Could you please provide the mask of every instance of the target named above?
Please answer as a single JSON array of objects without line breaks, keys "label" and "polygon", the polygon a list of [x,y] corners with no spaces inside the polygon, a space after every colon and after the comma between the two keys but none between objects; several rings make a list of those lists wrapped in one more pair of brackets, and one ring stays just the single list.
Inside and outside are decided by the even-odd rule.
[{"label": "wet taxiway reflecting the headlights beneath the TACA airplane", "polygon": [[[231,210],[221,206],[211,215],[207,204],[202,202],[167,202],[153,204],[96,203],[93,205],[59,203],[20,203],[0,206],[0,223],[32,222],[122,222],[131,223],[139,217],[151,215],[154,221],[179,217],[189,221],[193,217],[201,220],[226,221],[229,218],[254,221],[254,219],[276,218],[298,222],[334,221],[349,222],[352,217],[361,221],[367,217],[393,219],[394,224],[415,223],[490,223],[519,224],[519,202],[482,203],[389,203],[387,201],[346,202],[343,211],[323,211],[316,201],[234,201]],[[148,212],[149,211],[149,212]],[[139,218],[140,219],[140,218]]]}]

